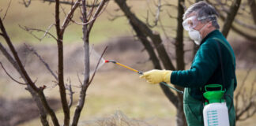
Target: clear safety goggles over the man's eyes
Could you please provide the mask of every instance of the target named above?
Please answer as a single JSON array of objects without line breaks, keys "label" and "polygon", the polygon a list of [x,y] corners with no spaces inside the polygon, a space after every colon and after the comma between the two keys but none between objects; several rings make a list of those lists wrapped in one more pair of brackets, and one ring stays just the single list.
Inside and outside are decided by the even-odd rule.
[{"label": "clear safety goggles over the man's eyes", "polygon": [[183,21],[183,28],[186,31],[190,31],[190,29],[195,28],[197,25],[198,25],[198,20],[196,16],[186,18],[186,20]]}]

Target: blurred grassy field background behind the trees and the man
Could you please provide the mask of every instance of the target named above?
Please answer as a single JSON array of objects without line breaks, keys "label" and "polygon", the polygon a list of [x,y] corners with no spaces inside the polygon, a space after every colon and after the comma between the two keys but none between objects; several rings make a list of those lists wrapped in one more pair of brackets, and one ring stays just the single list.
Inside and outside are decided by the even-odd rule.
[{"label": "blurred grassy field background behind the trees and the man", "polygon": [[[71,0],[64,0],[63,2],[71,2]],[[186,9],[194,2],[193,0],[185,1],[183,2],[183,7]],[[217,5],[218,1],[209,2]],[[228,14],[225,13],[225,9],[229,9],[228,7],[232,6],[235,1],[223,0],[220,2],[223,4],[219,3],[216,8],[223,13],[224,17],[227,17]],[[227,37],[236,56],[238,87],[235,93],[239,88],[245,93],[242,96],[243,98],[238,99],[239,102],[242,102],[238,106],[243,108],[243,103],[249,102],[251,104],[250,109],[247,109],[241,117],[245,118],[245,120],[237,121],[237,125],[247,126],[254,125],[254,120],[256,119],[256,115],[254,115],[256,110],[253,107],[255,106],[256,96],[253,88],[256,81],[256,20],[253,17],[255,12],[250,9],[250,2],[255,4],[256,1],[241,2],[238,14],[235,17],[236,21],[233,24],[240,32],[231,29]],[[29,5],[25,6],[24,3]],[[126,3],[138,19],[148,24],[152,31],[160,34],[163,39],[162,43],[168,51],[168,56],[171,57],[171,61],[175,64],[174,43],[178,24],[178,1],[126,0]],[[150,24],[153,25],[155,23],[159,3],[163,6],[159,12],[159,23],[156,26],[150,26]],[[169,6],[164,6],[168,4]],[[61,4],[61,6],[62,24],[62,20],[66,17],[65,13],[70,11],[70,5]],[[5,16],[7,9],[8,13]],[[36,37],[42,38],[43,32],[29,32],[22,29],[27,27],[47,30],[49,26],[55,24],[55,2],[43,0],[0,1],[0,16],[5,17],[3,23],[21,57],[24,68],[28,71],[29,76],[32,77],[32,80],[36,80],[36,86],[47,86],[44,90],[47,100],[51,107],[55,109],[57,116],[62,120],[63,112],[58,86],[55,86],[55,78],[51,76],[51,73],[47,71],[39,58],[24,46],[24,43],[32,46],[43,60],[50,65],[52,71],[56,73],[58,71],[57,43],[55,39],[48,35],[42,40],[36,39]],[[80,17],[81,12],[77,9],[73,20],[81,22]],[[220,30],[222,30],[224,20],[219,19],[219,23]],[[56,35],[55,26],[49,29],[49,32]],[[186,31],[183,33],[185,68],[189,69],[194,57],[194,43],[188,38]],[[71,22],[66,28],[63,39],[65,83],[72,83],[74,91],[74,103],[70,109],[71,115],[79,96],[79,80],[83,80],[84,49],[82,34],[82,26]],[[140,71],[154,69],[145,46],[141,44],[135,35],[136,33],[130,26],[127,17],[124,16],[115,1],[110,0],[106,9],[96,19],[89,38],[91,71],[95,70],[96,63],[104,47],[108,46],[108,48],[104,54],[104,59],[100,62],[100,67],[92,84],[88,87],[85,107],[81,113],[81,125],[93,123],[100,125],[100,120],[110,119],[115,121],[119,118],[133,121],[134,124],[132,125],[175,125],[175,106],[169,102],[158,84],[146,83],[145,80],[140,80],[135,72],[123,69],[118,65],[104,64],[104,60],[113,59]],[[7,49],[6,41],[2,37],[0,37],[0,43],[6,46]],[[21,80],[21,76],[9,64],[2,52],[0,52],[0,61],[13,78]],[[39,113],[31,95],[25,90],[24,85],[17,84],[11,80],[2,68],[0,68],[0,86],[0,125],[40,125]],[[247,101],[243,101],[245,99]],[[247,117],[247,113],[250,115],[249,117]]]}]

